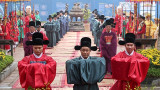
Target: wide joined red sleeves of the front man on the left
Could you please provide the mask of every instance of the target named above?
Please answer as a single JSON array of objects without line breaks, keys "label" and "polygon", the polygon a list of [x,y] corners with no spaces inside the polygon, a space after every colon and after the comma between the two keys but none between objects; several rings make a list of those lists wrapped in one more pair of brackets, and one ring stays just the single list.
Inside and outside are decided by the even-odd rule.
[{"label": "wide joined red sleeves of the front man on the left", "polygon": [[56,75],[56,62],[49,58],[47,64],[32,63],[28,59],[18,62],[20,83],[23,88],[42,88],[50,85]]}]

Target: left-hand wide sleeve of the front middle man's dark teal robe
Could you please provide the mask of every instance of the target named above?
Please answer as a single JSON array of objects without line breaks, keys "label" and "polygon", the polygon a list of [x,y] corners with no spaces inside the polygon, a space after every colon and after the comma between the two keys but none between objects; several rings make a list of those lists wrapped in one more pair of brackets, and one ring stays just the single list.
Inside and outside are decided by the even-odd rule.
[{"label": "left-hand wide sleeve of the front middle man's dark teal robe", "polygon": [[66,61],[67,83],[81,84],[80,62],[75,60]]}]

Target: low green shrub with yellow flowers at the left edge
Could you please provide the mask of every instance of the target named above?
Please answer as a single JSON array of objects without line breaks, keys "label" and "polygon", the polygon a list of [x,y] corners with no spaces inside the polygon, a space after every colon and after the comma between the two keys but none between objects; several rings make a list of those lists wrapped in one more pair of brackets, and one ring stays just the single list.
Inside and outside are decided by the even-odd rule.
[{"label": "low green shrub with yellow flowers at the left edge", "polygon": [[0,72],[13,62],[13,57],[6,55],[4,60],[0,60]]}]

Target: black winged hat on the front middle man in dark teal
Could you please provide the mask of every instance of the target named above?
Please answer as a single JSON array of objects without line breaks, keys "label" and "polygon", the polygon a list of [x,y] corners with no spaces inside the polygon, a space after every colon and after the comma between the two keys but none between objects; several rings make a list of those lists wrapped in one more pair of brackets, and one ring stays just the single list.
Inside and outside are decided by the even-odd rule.
[{"label": "black winged hat on the front middle man in dark teal", "polygon": [[74,47],[75,50],[80,50],[82,47],[89,47],[91,50],[96,51],[97,47],[96,46],[91,46],[91,39],[89,37],[83,37],[81,39],[81,45],[76,45]]}]

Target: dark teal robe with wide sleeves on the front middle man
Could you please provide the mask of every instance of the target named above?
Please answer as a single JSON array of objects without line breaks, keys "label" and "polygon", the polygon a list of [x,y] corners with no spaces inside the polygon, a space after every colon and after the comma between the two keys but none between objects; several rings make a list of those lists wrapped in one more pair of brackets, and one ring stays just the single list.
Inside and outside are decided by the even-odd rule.
[{"label": "dark teal robe with wide sleeves on the front middle man", "polygon": [[74,84],[74,90],[99,90],[97,82],[101,82],[106,73],[105,59],[101,57],[81,57],[66,62],[67,82]]}]

